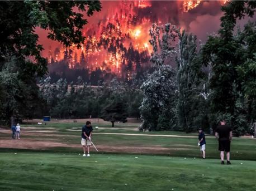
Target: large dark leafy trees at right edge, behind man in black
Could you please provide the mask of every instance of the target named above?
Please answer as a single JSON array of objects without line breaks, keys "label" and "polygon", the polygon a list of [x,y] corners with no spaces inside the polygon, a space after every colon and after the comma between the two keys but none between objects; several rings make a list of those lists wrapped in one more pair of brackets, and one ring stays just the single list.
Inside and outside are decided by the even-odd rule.
[{"label": "large dark leafy trees at right edge, behind man in black", "polygon": [[255,1],[232,1],[222,7],[224,16],[218,35],[210,36],[202,47],[203,63],[212,65],[212,126],[216,126],[217,119],[225,118],[233,126],[235,135],[243,135],[255,121],[255,84],[252,85],[252,81],[256,75],[253,72],[256,25],[249,22],[238,32],[234,32],[234,28],[237,19],[252,17],[255,8]]}]

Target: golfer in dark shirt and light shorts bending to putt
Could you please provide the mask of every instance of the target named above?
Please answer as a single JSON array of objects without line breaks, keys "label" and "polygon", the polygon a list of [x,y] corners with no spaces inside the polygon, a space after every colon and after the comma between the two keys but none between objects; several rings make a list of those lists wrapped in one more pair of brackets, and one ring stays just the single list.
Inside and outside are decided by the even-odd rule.
[{"label": "golfer in dark shirt and light shorts bending to putt", "polygon": [[[90,156],[90,146],[91,146],[91,137],[92,137],[92,126],[91,122],[87,121],[86,125],[82,128],[82,140],[81,144],[83,146],[83,156]],[[87,155],[86,155],[87,150]]]}]

